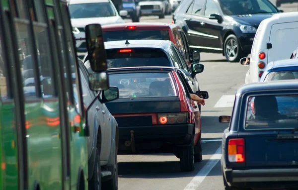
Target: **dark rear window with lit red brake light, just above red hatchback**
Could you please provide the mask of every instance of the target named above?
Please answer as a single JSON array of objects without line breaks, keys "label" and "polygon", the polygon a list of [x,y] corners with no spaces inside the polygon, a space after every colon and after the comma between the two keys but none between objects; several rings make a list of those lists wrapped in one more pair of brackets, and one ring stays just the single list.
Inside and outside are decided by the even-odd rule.
[{"label": "dark rear window with lit red brake light, just above red hatchback", "polygon": [[171,66],[167,55],[160,49],[110,49],[106,50],[106,52],[108,68]]}]

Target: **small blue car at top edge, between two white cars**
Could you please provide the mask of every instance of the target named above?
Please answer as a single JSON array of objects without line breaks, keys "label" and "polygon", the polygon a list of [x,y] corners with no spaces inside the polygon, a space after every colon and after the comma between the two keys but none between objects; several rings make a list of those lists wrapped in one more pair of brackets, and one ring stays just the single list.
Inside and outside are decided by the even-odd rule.
[{"label": "small blue car at top edge, between two white cars", "polygon": [[128,12],[133,22],[140,22],[141,8],[137,0],[122,0],[123,10]]}]

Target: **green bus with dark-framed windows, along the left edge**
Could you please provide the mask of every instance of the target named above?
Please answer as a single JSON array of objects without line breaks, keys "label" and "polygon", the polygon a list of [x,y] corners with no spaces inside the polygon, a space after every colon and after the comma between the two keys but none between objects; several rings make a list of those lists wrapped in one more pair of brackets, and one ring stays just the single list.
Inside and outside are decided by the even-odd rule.
[{"label": "green bus with dark-framed windows, along the left edge", "polygon": [[0,0],[0,190],[87,190],[66,0]]}]

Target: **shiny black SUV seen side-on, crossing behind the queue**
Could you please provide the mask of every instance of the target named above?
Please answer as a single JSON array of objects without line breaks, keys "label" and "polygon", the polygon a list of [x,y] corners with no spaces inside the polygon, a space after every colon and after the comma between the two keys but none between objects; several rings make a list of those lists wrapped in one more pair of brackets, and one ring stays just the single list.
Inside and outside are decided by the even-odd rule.
[{"label": "shiny black SUV seen side-on, crossing behind the queue", "polygon": [[269,0],[183,0],[173,14],[192,50],[238,62],[251,52],[262,20],[280,13]]}]

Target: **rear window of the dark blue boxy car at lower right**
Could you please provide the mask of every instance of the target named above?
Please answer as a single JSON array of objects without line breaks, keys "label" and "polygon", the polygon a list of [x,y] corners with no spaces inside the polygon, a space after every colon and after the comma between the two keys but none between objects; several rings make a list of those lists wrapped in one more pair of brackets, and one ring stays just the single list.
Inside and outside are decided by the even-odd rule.
[{"label": "rear window of the dark blue boxy car at lower right", "polygon": [[248,98],[245,129],[298,127],[298,95],[260,95]]}]

